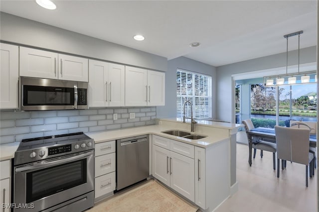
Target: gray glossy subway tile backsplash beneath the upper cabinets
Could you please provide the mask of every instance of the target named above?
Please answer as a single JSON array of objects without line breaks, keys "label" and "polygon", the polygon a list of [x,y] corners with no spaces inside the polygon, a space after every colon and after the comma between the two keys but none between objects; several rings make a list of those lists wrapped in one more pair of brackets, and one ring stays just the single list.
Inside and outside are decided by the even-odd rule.
[{"label": "gray glossy subway tile backsplash beneath the upper cabinets", "polygon": [[[135,112],[130,119],[129,113]],[[118,119],[113,120],[113,113]],[[155,124],[156,107],[117,107],[85,110],[1,111],[0,144],[25,138],[73,132],[96,132]]]}]

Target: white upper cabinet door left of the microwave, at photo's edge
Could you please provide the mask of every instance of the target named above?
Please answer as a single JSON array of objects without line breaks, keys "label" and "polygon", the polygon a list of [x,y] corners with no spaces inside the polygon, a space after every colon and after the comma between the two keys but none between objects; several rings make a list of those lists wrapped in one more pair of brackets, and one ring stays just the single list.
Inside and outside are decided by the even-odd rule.
[{"label": "white upper cabinet door left of the microwave, at photo's edge", "polygon": [[0,43],[0,109],[18,107],[19,47]]}]

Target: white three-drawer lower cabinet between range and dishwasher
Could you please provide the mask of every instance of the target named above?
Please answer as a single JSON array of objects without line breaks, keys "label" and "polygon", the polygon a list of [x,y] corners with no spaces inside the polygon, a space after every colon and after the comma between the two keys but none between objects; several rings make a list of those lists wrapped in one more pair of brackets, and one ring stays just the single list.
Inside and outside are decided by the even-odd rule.
[{"label": "white three-drawer lower cabinet between range and dishwasher", "polygon": [[[113,192],[115,182],[115,141],[95,145],[95,199]],[[102,197],[103,198],[103,197]]]}]

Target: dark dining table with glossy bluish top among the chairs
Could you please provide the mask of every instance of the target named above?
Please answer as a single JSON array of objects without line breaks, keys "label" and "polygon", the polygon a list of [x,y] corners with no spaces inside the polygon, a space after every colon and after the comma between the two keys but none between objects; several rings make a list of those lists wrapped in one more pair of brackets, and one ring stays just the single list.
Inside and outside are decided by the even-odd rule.
[{"label": "dark dining table with glossy bluish top among the chairs", "polygon": [[[265,128],[265,127],[257,127],[252,130],[246,132],[248,138],[248,146],[249,146],[249,157],[248,163],[251,166],[252,163],[252,147],[253,147],[253,137],[258,137],[260,140],[264,142],[272,142],[276,143],[276,134],[274,128]],[[311,134],[309,137],[309,146],[317,147],[317,137],[316,134]]]}]

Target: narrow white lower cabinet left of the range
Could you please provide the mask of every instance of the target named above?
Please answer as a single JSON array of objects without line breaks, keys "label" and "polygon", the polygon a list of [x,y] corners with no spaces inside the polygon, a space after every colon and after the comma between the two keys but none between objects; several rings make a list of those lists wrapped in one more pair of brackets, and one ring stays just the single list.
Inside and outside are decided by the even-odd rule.
[{"label": "narrow white lower cabinet left of the range", "polygon": [[0,206],[1,212],[9,212],[9,207],[2,204],[10,203],[10,160],[0,162]]}]

